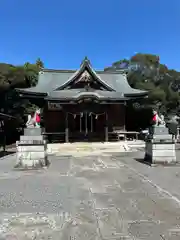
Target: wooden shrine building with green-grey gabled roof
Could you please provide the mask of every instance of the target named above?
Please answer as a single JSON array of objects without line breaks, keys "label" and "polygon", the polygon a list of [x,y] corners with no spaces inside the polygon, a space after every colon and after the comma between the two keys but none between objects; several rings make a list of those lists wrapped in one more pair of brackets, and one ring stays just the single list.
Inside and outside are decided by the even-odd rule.
[{"label": "wooden shrine building with green-grey gabled roof", "polygon": [[49,141],[111,141],[126,130],[126,104],[147,91],[130,87],[126,73],[95,71],[85,58],[78,70],[42,69],[35,87],[17,89],[42,110]]}]

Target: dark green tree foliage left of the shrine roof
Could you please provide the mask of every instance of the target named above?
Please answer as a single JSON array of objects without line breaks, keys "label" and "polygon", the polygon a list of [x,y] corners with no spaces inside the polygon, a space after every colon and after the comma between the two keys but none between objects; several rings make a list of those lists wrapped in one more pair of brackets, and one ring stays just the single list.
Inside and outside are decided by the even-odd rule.
[{"label": "dark green tree foliage left of the shrine roof", "polygon": [[35,64],[26,62],[20,66],[0,63],[0,112],[13,115],[19,123],[23,123],[23,116],[34,111],[35,106],[28,100],[20,99],[15,88],[35,86],[43,67],[40,58]]}]

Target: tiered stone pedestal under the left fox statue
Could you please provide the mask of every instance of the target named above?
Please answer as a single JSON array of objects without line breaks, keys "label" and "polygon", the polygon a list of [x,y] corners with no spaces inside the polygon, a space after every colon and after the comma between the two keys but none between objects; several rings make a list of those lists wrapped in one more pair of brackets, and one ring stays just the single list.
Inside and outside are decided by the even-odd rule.
[{"label": "tiered stone pedestal under the left fox statue", "polygon": [[47,142],[41,128],[26,128],[24,136],[16,142],[16,168],[42,168],[49,164],[47,157]]}]

